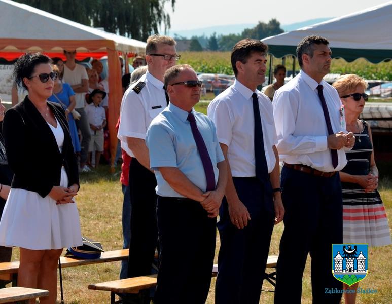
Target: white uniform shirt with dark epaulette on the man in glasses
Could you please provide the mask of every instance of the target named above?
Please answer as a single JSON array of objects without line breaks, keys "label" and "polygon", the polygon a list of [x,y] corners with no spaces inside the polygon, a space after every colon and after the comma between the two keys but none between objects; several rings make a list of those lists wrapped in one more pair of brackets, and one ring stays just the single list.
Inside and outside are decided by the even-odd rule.
[{"label": "white uniform shirt with dark epaulette on the man in glasses", "polygon": [[[146,83],[137,94],[133,87],[140,81]],[[147,72],[124,93],[120,108],[120,126],[117,137],[126,153],[134,157],[128,147],[127,137],[146,138],[151,121],[167,106],[163,82]]]}]

